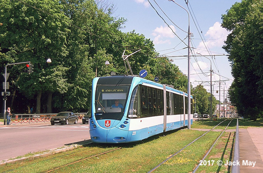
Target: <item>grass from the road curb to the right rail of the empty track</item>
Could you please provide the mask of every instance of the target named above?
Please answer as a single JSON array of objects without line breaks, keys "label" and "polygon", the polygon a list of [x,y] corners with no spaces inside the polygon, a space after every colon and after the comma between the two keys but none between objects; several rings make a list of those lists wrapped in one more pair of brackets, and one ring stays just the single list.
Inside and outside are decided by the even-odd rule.
[{"label": "grass from the road curb to the right rail of the empty track", "polygon": [[[106,150],[122,146],[122,149],[105,155],[75,163],[55,170],[54,172],[147,172],[160,162],[178,152],[182,147],[201,136],[204,132],[183,129],[178,132],[155,136],[143,142],[125,145],[91,144],[69,152],[59,153],[45,158],[28,160],[23,163],[8,164],[0,167],[1,171],[43,172],[58,166],[74,162]],[[178,156],[167,161],[156,171],[177,172],[192,171],[199,163],[209,145],[213,143],[219,132],[210,132]]]}]

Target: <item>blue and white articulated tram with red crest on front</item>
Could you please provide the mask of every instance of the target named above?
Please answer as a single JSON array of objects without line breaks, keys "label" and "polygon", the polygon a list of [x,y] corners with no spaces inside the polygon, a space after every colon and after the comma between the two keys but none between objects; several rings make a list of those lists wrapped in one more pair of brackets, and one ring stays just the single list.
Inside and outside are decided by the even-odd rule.
[{"label": "blue and white articulated tram with red crest on front", "polygon": [[[91,140],[135,142],[185,126],[187,97],[184,92],[140,77],[96,77],[92,83]],[[115,106],[116,102],[122,106]],[[190,117],[192,124],[193,115]]]}]

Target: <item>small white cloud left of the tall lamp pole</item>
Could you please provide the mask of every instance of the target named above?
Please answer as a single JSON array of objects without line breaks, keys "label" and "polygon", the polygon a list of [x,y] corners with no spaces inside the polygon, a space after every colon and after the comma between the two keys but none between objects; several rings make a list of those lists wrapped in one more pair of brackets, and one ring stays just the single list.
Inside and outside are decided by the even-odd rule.
[{"label": "small white cloud left of the tall lamp pole", "polygon": [[[176,31],[176,28],[174,26],[170,26],[170,28],[173,30],[173,32]],[[171,44],[170,40],[167,38],[173,38],[174,34],[171,31],[169,27],[157,27],[153,32],[152,35],[155,36],[154,38],[154,44],[160,45],[160,44]]]}]

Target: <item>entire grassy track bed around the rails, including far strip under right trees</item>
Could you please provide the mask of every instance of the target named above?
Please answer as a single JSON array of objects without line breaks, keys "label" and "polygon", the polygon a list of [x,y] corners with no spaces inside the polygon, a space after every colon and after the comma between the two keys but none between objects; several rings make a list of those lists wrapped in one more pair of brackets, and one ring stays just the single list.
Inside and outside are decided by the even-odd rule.
[{"label": "entire grassy track bed around the rails, including far strip under right trees", "polygon": [[[217,121],[195,121],[191,128],[212,128],[222,119]],[[224,129],[230,122],[227,120],[217,128]],[[262,126],[262,119],[258,121],[239,120],[240,127]],[[234,129],[236,120],[230,123]],[[86,159],[81,162],[62,167],[53,172],[148,172],[159,163],[178,152],[188,143],[198,138],[205,132],[193,129],[180,129],[162,135],[157,135],[137,143],[130,144],[89,144],[68,152],[58,153],[44,158],[27,160],[21,163],[11,163],[0,166],[0,172],[45,172],[50,169],[72,163],[74,161],[94,156],[96,154],[122,147],[115,152]],[[182,152],[169,159],[165,164],[156,169],[156,172],[191,172],[199,164],[207,150],[221,132],[209,132],[195,143],[186,147]],[[213,165],[200,166],[197,172],[229,172],[230,167],[218,166],[216,161],[232,159],[234,132],[224,132],[222,138],[217,141],[215,147],[206,158],[206,161],[215,161]],[[210,163],[211,164],[211,163]]]}]

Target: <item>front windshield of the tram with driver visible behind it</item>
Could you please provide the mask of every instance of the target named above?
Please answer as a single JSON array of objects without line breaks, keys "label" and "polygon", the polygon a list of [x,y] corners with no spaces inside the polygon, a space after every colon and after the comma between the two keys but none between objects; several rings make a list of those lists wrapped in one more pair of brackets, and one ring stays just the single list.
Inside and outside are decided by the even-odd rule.
[{"label": "front windshield of the tram with driver visible behind it", "polygon": [[95,96],[96,119],[121,120],[125,109],[128,85],[122,86],[98,86]]}]

